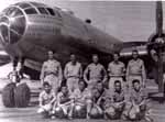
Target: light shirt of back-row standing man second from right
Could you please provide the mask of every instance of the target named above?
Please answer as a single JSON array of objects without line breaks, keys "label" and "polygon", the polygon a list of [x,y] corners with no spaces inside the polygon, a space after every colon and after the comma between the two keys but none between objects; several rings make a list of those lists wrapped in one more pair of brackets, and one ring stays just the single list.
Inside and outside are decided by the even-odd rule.
[{"label": "light shirt of back-row standing man second from right", "polygon": [[111,62],[108,65],[109,76],[123,76],[125,71],[125,66],[122,62]]}]

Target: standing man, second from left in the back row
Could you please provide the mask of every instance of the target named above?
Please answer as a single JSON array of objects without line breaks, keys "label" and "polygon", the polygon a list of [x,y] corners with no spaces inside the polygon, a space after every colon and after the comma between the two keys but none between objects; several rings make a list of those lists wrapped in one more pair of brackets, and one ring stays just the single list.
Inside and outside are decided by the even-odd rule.
[{"label": "standing man, second from left in the back row", "polygon": [[78,88],[78,81],[82,77],[81,64],[77,62],[75,54],[70,55],[70,62],[65,66],[64,77],[67,80],[69,93],[72,93]]}]

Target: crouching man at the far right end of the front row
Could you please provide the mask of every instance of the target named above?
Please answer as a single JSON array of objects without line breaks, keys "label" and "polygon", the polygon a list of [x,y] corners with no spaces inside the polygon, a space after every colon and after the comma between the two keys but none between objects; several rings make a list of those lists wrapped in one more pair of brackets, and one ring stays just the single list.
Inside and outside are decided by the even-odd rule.
[{"label": "crouching man at the far right end of the front row", "polygon": [[127,102],[123,115],[130,120],[141,120],[150,118],[146,115],[147,100],[144,88],[140,85],[140,80],[135,79],[132,81],[133,88],[130,91],[130,101]]}]

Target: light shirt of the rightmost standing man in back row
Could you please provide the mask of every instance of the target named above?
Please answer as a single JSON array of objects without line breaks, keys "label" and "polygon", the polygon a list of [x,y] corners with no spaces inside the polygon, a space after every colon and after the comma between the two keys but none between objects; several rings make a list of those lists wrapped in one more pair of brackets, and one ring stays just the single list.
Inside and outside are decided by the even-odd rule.
[{"label": "light shirt of the rightmost standing man in back row", "polygon": [[131,59],[127,68],[127,77],[129,76],[142,76],[143,80],[146,79],[145,67],[142,59]]}]

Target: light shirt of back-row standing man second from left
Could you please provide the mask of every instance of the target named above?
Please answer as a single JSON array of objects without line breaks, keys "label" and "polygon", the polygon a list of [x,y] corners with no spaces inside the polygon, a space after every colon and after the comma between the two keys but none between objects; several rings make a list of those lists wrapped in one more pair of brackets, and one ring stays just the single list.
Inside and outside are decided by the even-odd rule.
[{"label": "light shirt of back-row standing man second from left", "polygon": [[72,62],[67,63],[64,69],[65,78],[77,77],[80,78],[82,76],[82,68],[80,63],[76,63],[75,65]]}]

